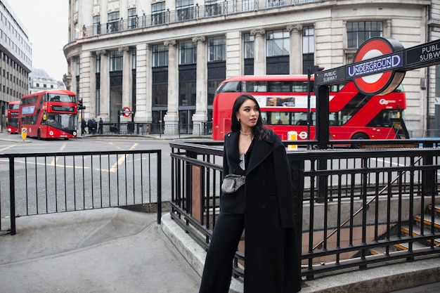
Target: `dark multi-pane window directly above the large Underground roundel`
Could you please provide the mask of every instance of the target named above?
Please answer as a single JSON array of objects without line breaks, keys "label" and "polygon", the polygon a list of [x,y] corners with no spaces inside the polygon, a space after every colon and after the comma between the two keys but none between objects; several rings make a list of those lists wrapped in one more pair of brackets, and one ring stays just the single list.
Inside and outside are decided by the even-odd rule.
[{"label": "dark multi-pane window directly above the large Underground roundel", "polygon": [[382,32],[380,21],[347,22],[347,47],[359,48],[368,39],[382,37]]}]

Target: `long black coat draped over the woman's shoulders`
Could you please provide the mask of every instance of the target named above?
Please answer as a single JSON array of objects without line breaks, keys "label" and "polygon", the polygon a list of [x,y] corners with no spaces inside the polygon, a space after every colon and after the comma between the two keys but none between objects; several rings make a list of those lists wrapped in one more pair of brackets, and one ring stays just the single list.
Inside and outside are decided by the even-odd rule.
[{"label": "long black coat draped over the woman's shoulders", "polygon": [[[240,174],[238,131],[225,136],[224,172]],[[290,293],[301,289],[300,253],[294,223],[294,195],[285,146],[276,134],[254,140],[246,183],[238,197],[221,196],[233,212],[244,202],[245,291]],[[240,210],[238,210],[240,211]]]}]

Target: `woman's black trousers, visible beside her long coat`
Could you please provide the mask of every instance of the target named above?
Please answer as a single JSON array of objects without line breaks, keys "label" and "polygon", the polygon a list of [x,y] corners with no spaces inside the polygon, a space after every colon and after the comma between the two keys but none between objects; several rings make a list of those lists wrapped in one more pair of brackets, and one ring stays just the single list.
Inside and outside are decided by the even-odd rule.
[{"label": "woman's black trousers, visible beside her long coat", "polygon": [[244,214],[220,211],[209,245],[199,293],[228,293],[233,258],[245,228]]}]

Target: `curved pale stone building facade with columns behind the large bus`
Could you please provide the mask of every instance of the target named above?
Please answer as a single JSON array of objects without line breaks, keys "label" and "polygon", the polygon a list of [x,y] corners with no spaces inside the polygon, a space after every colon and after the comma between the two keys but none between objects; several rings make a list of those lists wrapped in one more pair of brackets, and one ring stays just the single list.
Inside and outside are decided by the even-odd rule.
[{"label": "curved pale stone building facade with columns behind the large bus", "polygon": [[[85,115],[115,122],[129,107],[135,122],[192,133],[211,121],[214,91],[228,77],[339,67],[370,37],[409,48],[440,36],[439,0],[69,2],[65,83],[83,99]],[[406,72],[410,131],[440,128],[437,70]]]}]

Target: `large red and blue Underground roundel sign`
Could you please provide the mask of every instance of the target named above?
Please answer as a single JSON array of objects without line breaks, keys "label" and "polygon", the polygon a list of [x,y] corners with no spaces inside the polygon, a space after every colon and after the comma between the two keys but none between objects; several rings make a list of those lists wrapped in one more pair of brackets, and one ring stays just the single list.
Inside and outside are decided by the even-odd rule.
[{"label": "large red and blue Underground roundel sign", "polygon": [[[365,95],[386,95],[401,84],[405,72],[397,69],[403,65],[403,46],[395,39],[375,37],[365,41],[354,56],[353,65],[347,67],[348,77],[361,93]],[[392,54],[396,53],[396,54]],[[387,58],[381,56],[392,54]],[[387,70],[389,69],[389,70]],[[386,70],[386,71],[384,71]],[[363,75],[357,74],[380,71],[380,73]]]}]

